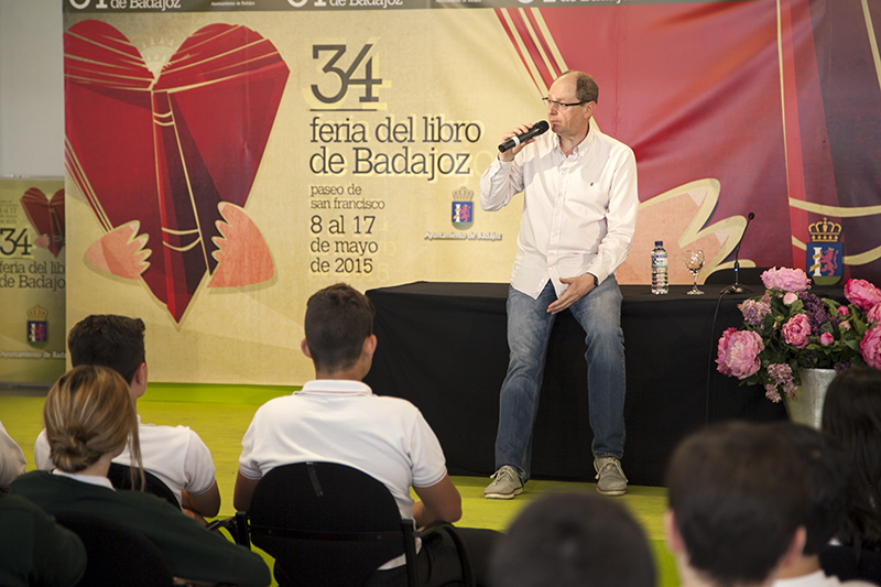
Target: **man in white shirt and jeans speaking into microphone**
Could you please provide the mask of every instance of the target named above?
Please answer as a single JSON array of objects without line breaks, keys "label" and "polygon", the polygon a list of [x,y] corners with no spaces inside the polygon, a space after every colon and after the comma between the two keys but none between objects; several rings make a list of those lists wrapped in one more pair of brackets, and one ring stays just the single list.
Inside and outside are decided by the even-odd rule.
[{"label": "man in white shirt and jeans speaking into microphone", "polygon": [[[637,225],[637,160],[629,146],[597,128],[598,95],[585,73],[557,77],[544,98],[551,132],[526,138],[533,126],[515,127],[502,137],[500,153],[480,178],[485,210],[507,206],[521,192],[524,198],[508,294],[510,359],[500,398],[497,470],[483,491],[489,499],[522,493],[530,478],[547,341],[564,309],[586,334],[597,490],[627,491],[621,469],[624,336],[614,271],[627,258]],[[505,144],[514,137],[516,144]]]}]

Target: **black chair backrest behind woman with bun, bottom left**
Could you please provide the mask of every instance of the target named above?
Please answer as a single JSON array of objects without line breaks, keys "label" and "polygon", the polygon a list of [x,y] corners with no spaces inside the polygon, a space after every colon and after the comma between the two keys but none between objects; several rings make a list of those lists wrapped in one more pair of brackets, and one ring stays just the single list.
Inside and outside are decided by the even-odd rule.
[{"label": "black chair backrest behind woman with bun, bottom left", "polygon": [[172,587],[172,574],[162,553],[138,530],[95,513],[53,515],[86,546],[86,573],[77,587]]}]

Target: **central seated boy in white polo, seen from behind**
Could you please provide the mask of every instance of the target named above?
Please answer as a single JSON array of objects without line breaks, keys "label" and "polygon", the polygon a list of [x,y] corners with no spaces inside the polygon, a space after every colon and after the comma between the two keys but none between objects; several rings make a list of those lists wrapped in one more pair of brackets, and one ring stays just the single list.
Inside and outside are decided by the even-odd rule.
[{"label": "central seated boy in white polo, seen from behind", "polygon": [[[361,381],[377,348],[373,314],[367,296],[341,283],[309,298],[301,348],[315,366],[315,380],[292,395],[270,400],[254,414],[241,443],[237,510],[248,510],[254,487],[274,467],[318,460],[348,465],[380,480],[402,518],[413,519],[417,528],[461,518],[461,498],[422,413],[406,400],[374,395]],[[411,498],[411,487],[420,501]],[[485,554],[498,533],[458,532],[481,584]],[[463,576],[458,552],[445,533],[426,536],[417,558],[424,586]],[[402,559],[390,561],[368,585],[406,585],[402,565]]]}]

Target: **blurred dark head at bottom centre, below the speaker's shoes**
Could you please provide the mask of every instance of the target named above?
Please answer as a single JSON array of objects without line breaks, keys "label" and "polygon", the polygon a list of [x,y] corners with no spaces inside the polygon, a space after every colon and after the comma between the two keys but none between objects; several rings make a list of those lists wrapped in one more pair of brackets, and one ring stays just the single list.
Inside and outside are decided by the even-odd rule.
[{"label": "blurred dark head at bottom centre, below the speaker's shoes", "polygon": [[548,493],[526,506],[497,544],[492,586],[654,587],[645,534],[600,496]]}]

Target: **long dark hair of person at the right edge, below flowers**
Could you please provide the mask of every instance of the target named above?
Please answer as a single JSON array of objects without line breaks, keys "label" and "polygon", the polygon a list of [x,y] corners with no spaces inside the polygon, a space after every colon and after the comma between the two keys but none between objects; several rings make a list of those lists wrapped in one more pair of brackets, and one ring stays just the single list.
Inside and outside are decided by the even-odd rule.
[{"label": "long dark hair of person at the right edge, below flowers", "polygon": [[881,371],[851,367],[838,373],[826,391],[822,430],[841,443],[851,467],[838,539],[881,550]]}]

